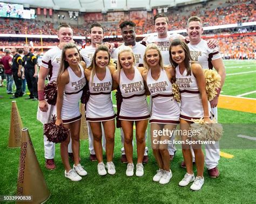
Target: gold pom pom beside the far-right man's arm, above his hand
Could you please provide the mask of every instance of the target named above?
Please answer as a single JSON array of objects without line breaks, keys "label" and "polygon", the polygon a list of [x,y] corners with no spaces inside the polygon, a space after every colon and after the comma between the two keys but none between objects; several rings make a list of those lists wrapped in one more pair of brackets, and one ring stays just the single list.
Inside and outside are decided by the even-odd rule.
[{"label": "gold pom pom beside the far-right man's arm, above his hand", "polygon": [[217,88],[220,88],[220,75],[212,69],[204,69],[205,82],[206,82],[206,93],[208,101],[214,99],[217,95]]}]

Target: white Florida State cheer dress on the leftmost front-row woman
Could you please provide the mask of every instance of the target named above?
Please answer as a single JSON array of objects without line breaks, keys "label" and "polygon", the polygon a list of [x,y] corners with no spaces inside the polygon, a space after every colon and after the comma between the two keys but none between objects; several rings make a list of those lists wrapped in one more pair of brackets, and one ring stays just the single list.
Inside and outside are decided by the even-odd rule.
[{"label": "white Florida State cheer dress on the leftmost front-row woman", "polygon": [[82,90],[86,84],[84,69],[79,66],[82,75],[78,77],[70,67],[69,83],[65,85],[61,118],[64,124],[78,121],[81,118],[79,111],[79,100],[83,94]]}]

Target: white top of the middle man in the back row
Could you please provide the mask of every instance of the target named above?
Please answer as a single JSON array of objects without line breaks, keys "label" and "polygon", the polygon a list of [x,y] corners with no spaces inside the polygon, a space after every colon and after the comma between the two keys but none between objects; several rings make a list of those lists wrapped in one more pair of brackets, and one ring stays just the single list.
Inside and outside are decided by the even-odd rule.
[{"label": "white top of the middle man in the back row", "polygon": [[[118,48],[116,48],[116,50],[114,50],[114,52],[111,54],[111,57],[117,61],[118,58],[118,53],[119,51],[124,47],[125,45],[121,45]],[[139,66],[139,65],[143,65],[143,57],[144,57],[144,53],[146,50],[146,46],[142,45],[140,43],[136,43],[134,46],[131,47],[132,48],[132,53],[135,56],[135,66]]]}]

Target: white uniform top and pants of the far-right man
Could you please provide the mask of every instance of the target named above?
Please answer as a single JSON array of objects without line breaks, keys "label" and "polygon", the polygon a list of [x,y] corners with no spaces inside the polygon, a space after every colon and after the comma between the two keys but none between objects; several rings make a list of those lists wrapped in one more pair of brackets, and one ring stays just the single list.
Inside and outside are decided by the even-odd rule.
[{"label": "white uniform top and pants of the far-right man", "polygon": [[[203,39],[197,45],[187,44],[190,48],[190,54],[194,61],[198,62],[203,69],[212,69],[212,60],[220,59],[221,55],[219,53],[218,47],[213,49],[209,48],[207,42]],[[217,107],[211,108],[211,115],[218,121],[218,110]],[[192,151],[193,152],[193,151]],[[205,164],[208,170],[218,166],[220,159],[219,142],[215,144],[205,145]]]}]

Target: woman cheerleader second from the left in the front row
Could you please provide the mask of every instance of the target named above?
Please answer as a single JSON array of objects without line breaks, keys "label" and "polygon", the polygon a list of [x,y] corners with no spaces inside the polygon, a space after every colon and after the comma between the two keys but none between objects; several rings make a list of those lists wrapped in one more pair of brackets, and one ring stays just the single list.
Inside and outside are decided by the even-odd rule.
[{"label": "woman cheerleader second from the left in the front row", "polygon": [[[116,173],[112,162],[114,152],[114,114],[111,101],[111,90],[117,85],[113,85],[112,74],[116,70],[109,66],[110,53],[106,46],[100,45],[92,58],[91,66],[85,69],[85,76],[89,81],[90,98],[86,104],[86,120],[90,122],[93,147],[98,160],[99,175],[111,175]],[[106,168],[103,163],[102,150],[102,126],[103,123],[106,137]]]}]

